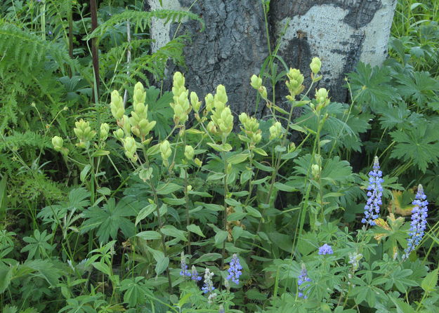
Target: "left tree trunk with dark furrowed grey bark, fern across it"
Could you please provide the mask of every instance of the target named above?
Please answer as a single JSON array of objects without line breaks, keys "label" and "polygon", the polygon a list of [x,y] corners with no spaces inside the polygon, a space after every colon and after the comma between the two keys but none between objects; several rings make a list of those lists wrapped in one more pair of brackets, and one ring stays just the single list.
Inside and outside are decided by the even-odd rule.
[{"label": "left tree trunk with dark furrowed grey bark, fern across it", "polygon": [[[151,10],[172,8],[187,10],[192,0],[148,0]],[[186,85],[200,99],[214,93],[223,84],[233,112],[254,112],[256,91],[250,86],[250,77],[258,73],[268,55],[265,22],[261,2],[255,0],[199,0],[190,9],[206,23],[199,32],[199,22],[184,22],[178,34],[189,33],[192,41],[185,48]],[[153,50],[166,44],[175,34],[178,25],[163,25],[155,20],[151,36],[157,41]],[[170,71],[173,69],[170,68]]]}]

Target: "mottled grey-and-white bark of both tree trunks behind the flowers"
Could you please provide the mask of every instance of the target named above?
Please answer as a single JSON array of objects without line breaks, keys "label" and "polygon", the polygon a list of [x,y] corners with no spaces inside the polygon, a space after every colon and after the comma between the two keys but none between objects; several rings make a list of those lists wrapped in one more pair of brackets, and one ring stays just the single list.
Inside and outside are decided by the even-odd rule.
[{"label": "mottled grey-and-white bark of both tree trunks behind the flowers", "polygon": [[[261,71],[268,57],[266,21],[260,0],[145,0],[147,8],[190,10],[206,23],[199,32],[199,22],[164,25],[152,22],[153,50],[166,44],[176,34],[190,34],[185,47],[188,69],[186,85],[200,98],[225,85],[229,105],[235,113],[254,112],[256,91],[249,85],[252,74]],[[397,0],[271,0],[268,18],[272,50],[281,41],[280,55],[289,67],[310,76],[313,57],[322,60],[324,79],[318,87],[330,90],[333,100],[346,102],[344,77],[358,61],[380,65],[387,55],[393,12]],[[169,68],[169,74],[174,68]],[[309,84],[309,81],[306,81]],[[276,89],[281,98],[284,84]]]}]

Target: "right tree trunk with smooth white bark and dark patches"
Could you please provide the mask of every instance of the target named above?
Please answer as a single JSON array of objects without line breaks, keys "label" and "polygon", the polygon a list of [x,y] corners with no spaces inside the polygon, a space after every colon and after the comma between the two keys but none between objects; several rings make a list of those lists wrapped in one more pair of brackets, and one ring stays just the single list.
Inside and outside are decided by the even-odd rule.
[{"label": "right tree trunk with smooth white bark and dark patches", "polygon": [[358,61],[374,66],[386,60],[396,2],[271,0],[273,35],[285,31],[279,54],[306,77],[311,59],[319,57],[324,76],[319,87],[329,89],[332,100],[346,102],[344,78]]}]

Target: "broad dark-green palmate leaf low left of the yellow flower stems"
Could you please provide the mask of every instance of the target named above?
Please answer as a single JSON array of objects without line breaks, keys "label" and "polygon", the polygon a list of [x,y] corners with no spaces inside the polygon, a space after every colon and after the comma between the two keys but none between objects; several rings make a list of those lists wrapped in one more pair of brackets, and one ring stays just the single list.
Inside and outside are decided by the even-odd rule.
[{"label": "broad dark-green palmate leaf low left of the yellow flower stems", "polygon": [[134,236],[136,227],[126,217],[136,216],[139,206],[139,201],[132,196],[122,198],[117,205],[114,198],[111,198],[103,208],[92,206],[84,211],[86,220],[82,225],[81,233],[97,228],[96,235],[102,244],[106,244],[110,237],[115,239],[119,229],[126,237]]}]

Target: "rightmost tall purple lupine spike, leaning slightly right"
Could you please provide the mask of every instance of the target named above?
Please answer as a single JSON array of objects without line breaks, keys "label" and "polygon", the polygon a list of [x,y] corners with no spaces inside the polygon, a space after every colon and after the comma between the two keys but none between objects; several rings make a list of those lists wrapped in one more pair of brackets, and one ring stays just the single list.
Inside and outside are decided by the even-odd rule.
[{"label": "rightmost tall purple lupine spike, leaning slightly right", "polygon": [[412,204],[414,205],[412,210],[412,222],[410,227],[410,238],[407,239],[407,248],[405,249],[405,255],[403,258],[408,258],[410,252],[414,251],[417,245],[424,237],[424,231],[427,225],[427,212],[428,201],[427,196],[424,194],[424,188],[422,185],[418,186],[418,192]]}]

